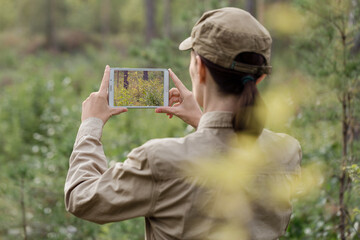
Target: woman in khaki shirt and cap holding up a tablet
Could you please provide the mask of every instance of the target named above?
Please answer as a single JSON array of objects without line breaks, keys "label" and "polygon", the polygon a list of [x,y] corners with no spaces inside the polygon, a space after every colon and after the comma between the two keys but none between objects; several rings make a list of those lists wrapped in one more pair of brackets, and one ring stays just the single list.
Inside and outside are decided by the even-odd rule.
[{"label": "woman in khaki shirt and cap holding up a tablet", "polygon": [[[107,167],[100,142],[102,127],[112,115],[127,110],[108,106],[107,66],[99,91],[83,102],[82,124],[65,184],[67,210],[97,223],[144,216],[146,239],[205,239],[219,219],[203,211],[207,205],[200,201],[204,189],[185,179],[185,166],[196,166],[197,158],[226,151],[237,134],[250,134],[260,142],[270,140],[268,144],[274,147],[281,142],[277,154],[281,164],[289,172],[296,171],[301,159],[298,142],[263,130],[264,119],[254,110],[262,104],[256,84],[271,70],[271,41],[267,30],[243,10],[206,12],[179,47],[191,49],[193,92],[170,71],[176,85],[170,91],[170,105],[174,105],[156,110],[178,116],[196,132],[148,141],[112,168]],[[280,141],[284,138],[286,144]],[[277,239],[284,234],[290,214],[290,205],[276,210],[255,208],[249,236]]]}]

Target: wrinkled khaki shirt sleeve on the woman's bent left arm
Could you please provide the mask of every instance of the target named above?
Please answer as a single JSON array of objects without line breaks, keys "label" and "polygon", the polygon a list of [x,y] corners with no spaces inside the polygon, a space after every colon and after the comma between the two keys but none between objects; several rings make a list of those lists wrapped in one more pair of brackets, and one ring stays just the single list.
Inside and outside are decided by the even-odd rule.
[{"label": "wrinkled khaki shirt sleeve on the woman's bent left arm", "polygon": [[102,127],[101,119],[89,118],[79,128],[64,189],[66,209],[100,224],[146,216],[154,181],[145,148],[134,149],[124,163],[108,168]]}]

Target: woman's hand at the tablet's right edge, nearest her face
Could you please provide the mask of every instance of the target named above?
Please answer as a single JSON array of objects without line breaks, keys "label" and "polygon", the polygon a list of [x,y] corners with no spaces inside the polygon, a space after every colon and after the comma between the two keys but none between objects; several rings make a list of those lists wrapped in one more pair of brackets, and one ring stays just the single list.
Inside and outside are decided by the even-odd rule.
[{"label": "woman's hand at the tablet's right edge, nearest her face", "polygon": [[169,91],[169,107],[159,107],[155,112],[166,113],[169,118],[175,115],[187,124],[197,128],[202,111],[195,100],[194,94],[185,87],[171,69],[169,69],[169,74],[176,88]]}]

